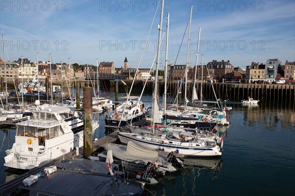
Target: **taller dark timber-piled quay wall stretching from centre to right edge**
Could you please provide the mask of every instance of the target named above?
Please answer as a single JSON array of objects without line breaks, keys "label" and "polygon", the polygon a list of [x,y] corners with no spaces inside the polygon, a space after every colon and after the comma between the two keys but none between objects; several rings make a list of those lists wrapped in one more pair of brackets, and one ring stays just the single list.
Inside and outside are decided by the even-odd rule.
[{"label": "taller dark timber-piled quay wall stretching from centre to right edge", "polygon": [[[111,81],[111,86],[114,86],[117,81]],[[132,81],[124,81],[128,88],[130,88]],[[193,82],[188,82],[187,88],[188,99],[191,99]],[[119,92],[124,92],[124,84],[118,81]],[[136,81],[133,84],[133,93],[140,93],[144,88],[145,81]],[[196,91],[200,99],[201,85],[203,85],[203,97],[205,99],[215,99],[214,91],[217,98],[230,101],[241,101],[251,97],[256,100],[282,100],[295,101],[295,85],[294,84],[228,84],[228,83],[197,83]],[[151,94],[153,92],[154,82],[148,81],[144,93]],[[182,96],[184,95],[184,83],[177,84],[177,82],[167,83],[167,93],[170,96],[176,95],[178,89],[181,89]],[[158,83],[158,95],[162,96],[164,92],[164,82]]]}]

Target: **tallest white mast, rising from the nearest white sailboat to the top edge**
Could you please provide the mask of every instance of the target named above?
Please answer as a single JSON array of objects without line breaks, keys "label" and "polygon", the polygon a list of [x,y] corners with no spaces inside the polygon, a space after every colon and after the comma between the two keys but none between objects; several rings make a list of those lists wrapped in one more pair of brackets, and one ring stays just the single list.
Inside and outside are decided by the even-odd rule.
[{"label": "tallest white mast, rising from the nearest white sailboat to the top edge", "polygon": [[[158,36],[158,48],[157,48],[157,60],[156,60],[156,73],[155,73],[155,86],[154,86],[154,91],[153,91],[153,107],[152,107],[152,125],[151,125],[151,130],[154,132],[154,127],[155,127],[155,122],[154,122],[154,116],[156,112],[155,106],[157,106],[157,85],[158,85],[158,69],[159,69],[159,60],[160,60],[160,47],[161,47],[161,29],[162,29],[162,18],[163,18],[163,11],[164,11],[164,0],[162,0],[161,3],[161,14],[160,14],[160,24],[158,25],[159,29],[159,36]],[[159,110],[157,108],[157,110]]]}]

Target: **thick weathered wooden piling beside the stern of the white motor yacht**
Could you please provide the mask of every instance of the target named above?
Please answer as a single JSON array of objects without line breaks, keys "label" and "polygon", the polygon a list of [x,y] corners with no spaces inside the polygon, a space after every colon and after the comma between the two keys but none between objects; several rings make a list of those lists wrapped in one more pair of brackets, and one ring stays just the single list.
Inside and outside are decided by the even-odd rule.
[{"label": "thick weathered wooden piling beside the stern of the white motor yacht", "polygon": [[84,155],[90,156],[92,154],[92,87],[83,88],[84,97]]}]

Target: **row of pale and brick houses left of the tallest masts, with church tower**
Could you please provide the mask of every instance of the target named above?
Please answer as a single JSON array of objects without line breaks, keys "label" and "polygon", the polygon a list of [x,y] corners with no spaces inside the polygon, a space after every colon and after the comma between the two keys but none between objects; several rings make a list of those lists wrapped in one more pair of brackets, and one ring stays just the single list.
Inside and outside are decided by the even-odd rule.
[{"label": "row of pale and brick houses left of the tallest masts, with church tower", "polygon": [[[84,79],[88,74],[96,73],[108,73],[118,74],[124,76],[126,79],[149,79],[154,74],[153,69],[149,73],[149,69],[140,69],[136,74],[136,70],[128,67],[128,60],[125,57],[124,68],[115,68],[114,62],[100,62],[97,68],[92,68],[93,65],[83,65],[83,69],[77,69],[74,71],[73,65],[56,64],[50,61],[38,61],[31,62],[28,58],[18,58],[18,60],[4,63],[0,58],[0,77],[14,78],[14,79],[35,79],[36,75],[40,79],[47,77],[52,78],[70,78],[70,79]],[[5,73],[6,67],[6,73]]]}]

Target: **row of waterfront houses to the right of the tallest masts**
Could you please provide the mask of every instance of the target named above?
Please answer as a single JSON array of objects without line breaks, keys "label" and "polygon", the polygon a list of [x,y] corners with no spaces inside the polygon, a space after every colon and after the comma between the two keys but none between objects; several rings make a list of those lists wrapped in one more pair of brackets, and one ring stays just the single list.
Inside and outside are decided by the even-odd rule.
[{"label": "row of waterfront houses to the right of the tallest masts", "polygon": [[[171,80],[183,80],[185,77],[186,65],[171,65],[169,76]],[[197,69],[197,72],[196,72]],[[212,60],[207,65],[188,67],[188,80],[194,80],[195,75],[197,80],[213,79],[218,82],[241,82],[241,83],[256,83],[285,80],[295,81],[295,62],[282,62],[279,59],[267,59],[266,64],[252,62],[246,66],[246,69],[235,67],[228,61]]]}]

